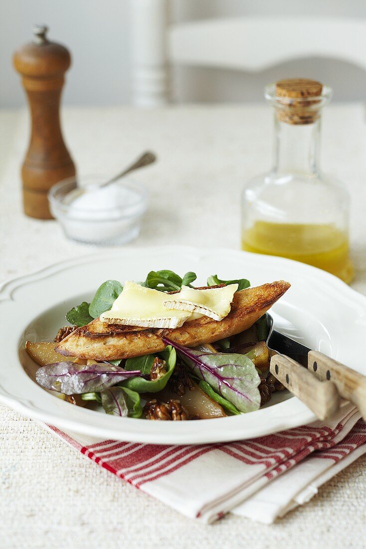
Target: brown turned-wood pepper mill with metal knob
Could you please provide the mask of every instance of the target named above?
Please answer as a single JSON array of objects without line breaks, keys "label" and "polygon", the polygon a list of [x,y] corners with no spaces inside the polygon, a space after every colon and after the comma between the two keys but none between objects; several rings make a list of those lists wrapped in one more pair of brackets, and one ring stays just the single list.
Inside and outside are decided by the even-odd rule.
[{"label": "brown turned-wood pepper mill with metal knob", "polygon": [[64,46],[47,40],[47,30],[44,25],[36,25],[33,42],[14,54],[14,66],[27,93],[32,126],[21,170],[24,212],[38,219],[52,219],[47,199],[50,187],[75,175],[60,126],[61,90],[71,58]]}]

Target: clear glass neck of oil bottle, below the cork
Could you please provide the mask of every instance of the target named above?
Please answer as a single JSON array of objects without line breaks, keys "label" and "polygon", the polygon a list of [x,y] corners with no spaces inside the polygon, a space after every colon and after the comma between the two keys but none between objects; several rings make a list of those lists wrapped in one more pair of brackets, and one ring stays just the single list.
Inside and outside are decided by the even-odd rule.
[{"label": "clear glass neck of oil bottle, below the cork", "polygon": [[312,124],[288,124],[274,115],[274,171],[314,176],[319,171],[320,116]]}]

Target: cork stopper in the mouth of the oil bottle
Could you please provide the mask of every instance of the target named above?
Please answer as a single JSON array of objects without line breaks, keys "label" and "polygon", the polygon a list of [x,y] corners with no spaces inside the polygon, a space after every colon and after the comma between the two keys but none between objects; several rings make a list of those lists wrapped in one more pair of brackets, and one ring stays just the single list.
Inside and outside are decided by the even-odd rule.
[{"label": "cork stopper in the mouth of the oil bottle", "polygon": [[278,119],[286,124],[312,124],[319,117],[322,91],[323,85],[316,80],[279,80],[275,83]]}]

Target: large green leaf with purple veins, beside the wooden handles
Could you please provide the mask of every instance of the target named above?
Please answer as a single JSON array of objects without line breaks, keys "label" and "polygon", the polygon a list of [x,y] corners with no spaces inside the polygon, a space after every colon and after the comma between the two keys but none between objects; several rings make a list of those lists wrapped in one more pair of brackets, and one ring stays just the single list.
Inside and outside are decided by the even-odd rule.
[{"label": "large green leaf with purple veins, beside the wooden handles", "polygon": [[162,339],[166,345],[172,345],[177,350],[196,376],[211,385],[224,399],[232,402],[240,412],[259,409],[260,377],[250,358],[238,354],[195,351],[165,337]]}]

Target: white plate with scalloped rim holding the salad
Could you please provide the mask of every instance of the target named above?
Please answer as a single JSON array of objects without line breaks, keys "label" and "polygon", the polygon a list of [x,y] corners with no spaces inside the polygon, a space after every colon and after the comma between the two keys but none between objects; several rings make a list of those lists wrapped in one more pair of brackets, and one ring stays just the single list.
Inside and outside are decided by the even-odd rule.
[{"label": "white plate with scalloped rim holding the salad", "polygon": [[[32,379],[36,365],[24,344],[52,340],[72,306],[90,300],[109,278],[140,280],[151,270],[195,271],[249,278],[252,285],[285,279],[291,288],[272,309],[275,327],[308,347],[366,373],[363,343],[366,298],[324,271],[296,261],[224,249],[159,247],[98,253],[13,279],[0,290],[2,361],[0,401],[26,416],[105,439],[157,444],[200,444],[246,439],[316,419],[295,397],[256,412],[192,422],[119,418],[77,407],[47,393]],[[281,394],[279,394],[281,395]],[[277,396],[277,399],[283,396]],[[271,403],[270,403],[271,404]]]}]

